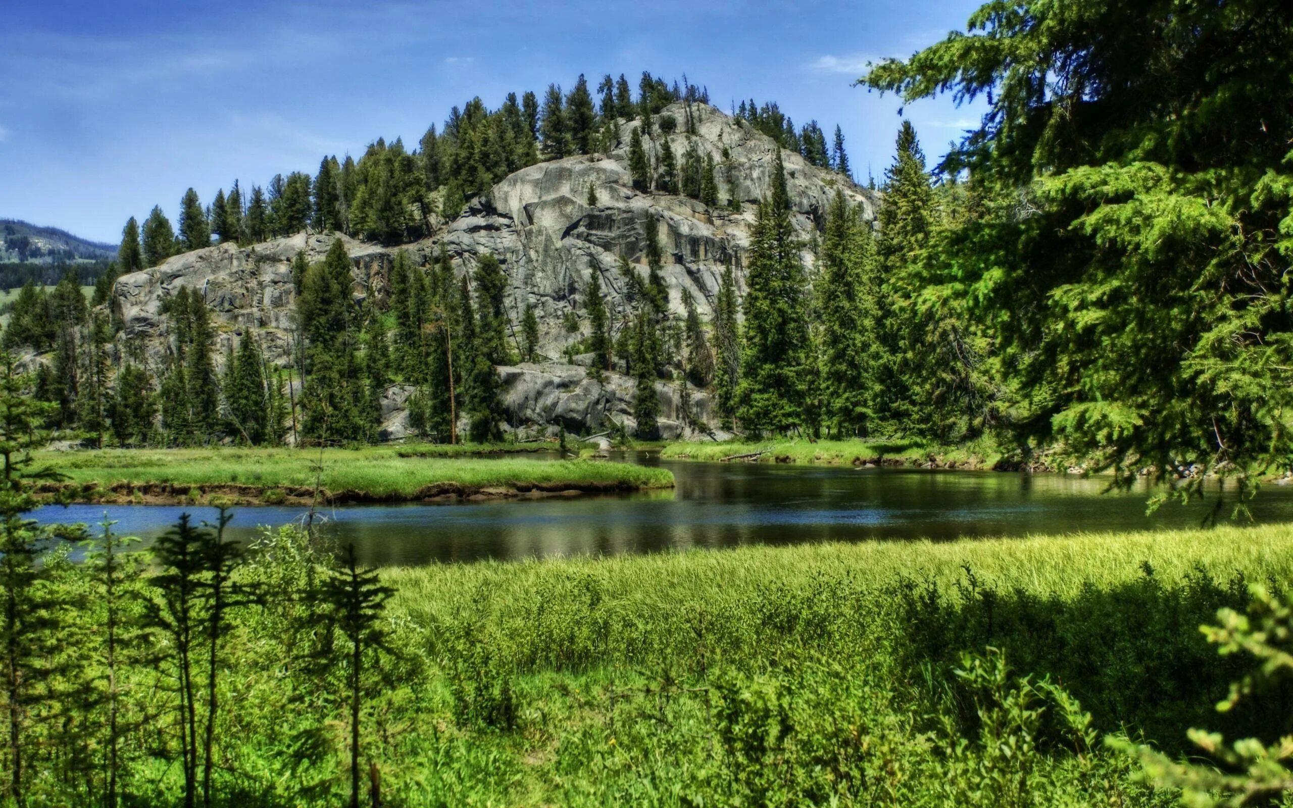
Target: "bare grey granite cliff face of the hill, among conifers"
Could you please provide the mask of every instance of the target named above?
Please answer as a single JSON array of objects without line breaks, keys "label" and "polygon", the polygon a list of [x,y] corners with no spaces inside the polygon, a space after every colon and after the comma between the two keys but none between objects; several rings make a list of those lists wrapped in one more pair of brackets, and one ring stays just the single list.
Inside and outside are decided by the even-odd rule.
[{"label": "bare grey granite cliff face of the hill, among conifers", "polygon": [[[615,328],[625,322],[628,304],[626,279],[618,268],[619,256],[645,274],[645,228],[658,222],[665,252],[663,279],[670,308],[681,315],[690,296],[702,318],[709,318],[723,266],[732,261],[737,283],[743,291],[743,256],[750,244],[754,206],[771,193],[776,146],[771,138],[743,122],[703,105],[693,106],[696,136],[681,133],[685,110],[672,105],[667,114],[679,122],[668,137],[681,164],[688,147],[716,165],[720,204],[716,208],[687,197],[641,194],[632,187],[628,172],[628,142],[637,122],[623,124],[619,144],[610,154],[579,155],[524,168],[473,199],[462,213],[441,226],[429,239],[385,247],[357,242],[339,234],[301,233],[252,247],[222,244],[176,256],[164,264],[123,275],[115,287],[118,313],[124,323],[122,339],[142,339],[150,361],[163,357],[168,334],[160,315],[163,296],[180,287],[202,293],[217,326],[216,356],[222,361],[237,335],[253,330],[270,361],[288,361],[292,350],[295,290],[291,261],[305,251],[310,261],[321,261],[336,238],[343,239],[354,262],[354,293],[361,300],[385,300],[388,275],[397,250],[407,250],[415,264],[429,264],[443,244],[459,273],[475,268],[478,256],[493,253],[508,277],[507,309],[520,337],[518,324],[526,304],[539,319],[540,366],[500,368],[507,381],[508,420],[525,424],[565,425],[568,431],[599,427],[609,414],[623,421],[632,409],[632,381],[608,375],[603,384],[575,381],[584,368],[557,365],[565,349],[587,334],[583,292],[591,271],[601,274]],[[644,138],[652,162],[658,160],[663,136]],[[825,220],[837,189],[860,206],[865,218],[874,218],[878,197],[830,171],[808,165],[798,154],[784,153],[786,187],[793,224],[803,238],[804,264],[813,265],[811,244]],[[596,204],[590,204],[590,189]],[[731,199],[741,211],[728,207]],[[574,310],[578,331],[568,331],[565,321]],[[666,389],[670,390],[666,393]],[[613,390],[613,393],[612,393]],[[665,420],[679,416],[667,401],[674,387],[661,385],[662,428]],[[693,412],[707,397],[692,393]],[[515,406],[513,406],[515,405]],[[401,412],[388,419],[398,421]],[[700,416],[697,415],[700,420]],[[706,414],[707,419],[707,414]],[[631,427],[631,419],[628,421]]]}]

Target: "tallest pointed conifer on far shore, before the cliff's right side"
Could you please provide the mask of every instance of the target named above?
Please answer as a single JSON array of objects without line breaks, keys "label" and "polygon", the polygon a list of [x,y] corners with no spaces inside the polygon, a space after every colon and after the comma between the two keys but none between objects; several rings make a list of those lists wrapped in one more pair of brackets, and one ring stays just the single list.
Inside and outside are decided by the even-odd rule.
[{"label": "tallest pointed conifer on far shore, before the cliff's right side", "polygon": [[759,204],[750,244],[741,349],[740,415],[756,433],[786,433],[803,419],[808,350],[804,270],[790,224],[781,151],[772,197]]}]

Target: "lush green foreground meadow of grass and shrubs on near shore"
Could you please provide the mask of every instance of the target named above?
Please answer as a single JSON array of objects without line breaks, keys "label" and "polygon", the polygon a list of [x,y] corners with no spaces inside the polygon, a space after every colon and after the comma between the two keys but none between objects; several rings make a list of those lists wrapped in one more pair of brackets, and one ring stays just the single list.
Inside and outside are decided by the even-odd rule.
[{"label": "lush green foreground meadow of grass and shrubs on near shore", "polygon": [[[264,597],[229,614],[212,804],[344,802],[341,680],[310,662],[319,562],[283,529],[239,571]],[[88,604],[71,636],[92,662],[96,584],[50,569]],[[1290,579],[1293,526],[384,570],[363,772],[384,805],[1165,808],[1102,737],[1181,754],[1190,727],[1281,732],[1268,705],[1214,711],[1252,661],[1197,628],[1245,582]],[[127,803],[177,804],[173,662],[132,648]],[[61,764],[50,715],[34,749]]]}]

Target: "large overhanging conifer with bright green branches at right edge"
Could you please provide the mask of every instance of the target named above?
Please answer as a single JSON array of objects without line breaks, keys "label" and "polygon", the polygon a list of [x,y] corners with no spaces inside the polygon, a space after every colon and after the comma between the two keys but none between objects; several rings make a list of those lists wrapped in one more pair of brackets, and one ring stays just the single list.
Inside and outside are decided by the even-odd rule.
[{"label": "large overhanging conifer with bright green branches at right edge", "polygon": [[1290,41],[1266,3],[990,3],[864,76],[989,102],[940,167],[968,187],[912,301],[990,349],[1020,442],[1184,496],[1287,467]]}]

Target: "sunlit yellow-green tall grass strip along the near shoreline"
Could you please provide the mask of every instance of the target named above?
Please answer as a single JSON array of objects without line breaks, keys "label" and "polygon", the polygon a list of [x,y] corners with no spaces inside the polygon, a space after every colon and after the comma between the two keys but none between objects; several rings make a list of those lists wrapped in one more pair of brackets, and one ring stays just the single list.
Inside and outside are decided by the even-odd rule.
[{"label": "sunlit yellow-green tall grass strip along the near shoreline", "polygon": [[999,590],[1073,596],[1087,584],[1111,587],[1144,575],[1179,580],[1197,568],[1230,578],[1293,580],[1293,524],[1209,530],[1082,533],[1054,537],[753,546],[644,556],[486,561],[472,565],[392,568],[383,574],[405,605],[450,604],[486,586],[497,599],[522,595],[544,580],[596,578],[606,597],[681,602],[723,601],[769,584],[804,586],[844,577],[861,587],[899,578],[941,584],[970,568]]}]

